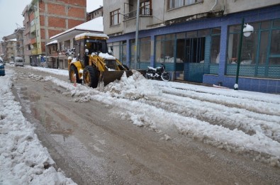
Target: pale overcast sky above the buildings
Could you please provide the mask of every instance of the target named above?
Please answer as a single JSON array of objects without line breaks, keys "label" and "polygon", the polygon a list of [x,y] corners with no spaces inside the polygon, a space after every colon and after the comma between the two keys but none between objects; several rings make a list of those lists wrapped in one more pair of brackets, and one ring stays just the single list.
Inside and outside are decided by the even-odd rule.
[{"label": "pale overcast sky above the buildings", "polygon": [[[0,40],[11,35],[19,26],[23,27],[23,9],[32,0],[0,0]],[[86,11],[93,11],[103,6],[103,0],[86,0]],[[16,23],[18,25],[16,25]]]}]

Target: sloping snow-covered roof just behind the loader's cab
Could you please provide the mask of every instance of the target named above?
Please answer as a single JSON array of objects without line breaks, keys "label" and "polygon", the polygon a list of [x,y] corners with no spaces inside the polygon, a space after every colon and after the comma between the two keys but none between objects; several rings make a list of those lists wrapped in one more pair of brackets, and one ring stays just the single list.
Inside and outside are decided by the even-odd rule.
[{"label": "sloping snow-covered roof just behind the loader's cab", "polygon": [[103,32],[103,17],[94,18],[91,21],[87,21],[86,23],[82,23],[82,24],[80,24],[80,25],[78,25],[74,28],[66,30],[65,32],[54,35],[50,39],[57,38],[58,36],[64,35],[65,33],[69,33],[72,30],[85,30],[85,31]]}]

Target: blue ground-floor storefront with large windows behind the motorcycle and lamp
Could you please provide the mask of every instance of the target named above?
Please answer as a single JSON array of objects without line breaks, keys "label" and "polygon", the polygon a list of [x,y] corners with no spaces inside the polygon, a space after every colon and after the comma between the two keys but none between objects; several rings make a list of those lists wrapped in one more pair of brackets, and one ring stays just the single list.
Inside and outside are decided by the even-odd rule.
[{"label": "blue ground-floor storefront with large windows behind the motorcycle and lamp", "polygon": [[[280,6],[140,30],[138,69],[164,62],[173,79],[233,89],[242,18],[254,33],[243,38],[239,89],[279,94]],[[134,67],[135,33],[108,43],[116,57]]]}]

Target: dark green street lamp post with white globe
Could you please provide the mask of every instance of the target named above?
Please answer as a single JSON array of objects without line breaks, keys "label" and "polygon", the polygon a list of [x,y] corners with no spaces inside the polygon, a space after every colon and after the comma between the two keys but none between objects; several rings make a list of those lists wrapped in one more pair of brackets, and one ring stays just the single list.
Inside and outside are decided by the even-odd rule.
[{"label": "dark green street lamp post with white globe", "polygon": [[239,69],[240,69],[240,60],[241,60],[241,50],[242,50],[242,39],[243,39],[243,34],[245,37],[249,37],[251,33],[253,33],[254,28],[250,26],[249,24],[244,23],[244,18],[242,18],[242,23],[241,23],[241,33],[240,33],[240,43],[238,47],[238,58],[237,58],[237,70],[236,70],[236,78],[235,78],[235,86],[233,89],[238,90],[238,76],[239,76]]}]

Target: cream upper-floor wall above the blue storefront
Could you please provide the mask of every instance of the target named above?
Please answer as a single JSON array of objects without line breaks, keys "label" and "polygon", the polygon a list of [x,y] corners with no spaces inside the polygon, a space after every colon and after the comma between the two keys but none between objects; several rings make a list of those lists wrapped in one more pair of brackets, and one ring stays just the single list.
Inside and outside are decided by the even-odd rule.
[{"label": "cream upper-floor wall above the blue storefront", "polygon": [[[141,1],[142,0],[140,0],[140,2]],[[162,23],[169,24],[177,18],[186,17],[185,20],[181,21],[188,21],[189,18],[201,18],[201,16],[206,16],[207,13],[215,11],[223,12],[223,14],[226,15],[280,4],[279,0],[203,0],[202,2],[191,4],[189,6],[182,6],[177,9],[167,10],[169,0],[151,0],[151,2],[152,16],[145,18],[142,16],[140,17],[139,30],[162,26]],[[133,4],[133,6],[129,6],[128,4]],[[136,27],[136,18],[123,21],[122,14],[128,13],[129,11],[135,11],[136,7],[137,0],[103,1],[104,33],[107,35],[120,35],[134,32]],[[110,26],[110,12],[117,9],[120,9],[121,23],[116,26]]]}]

